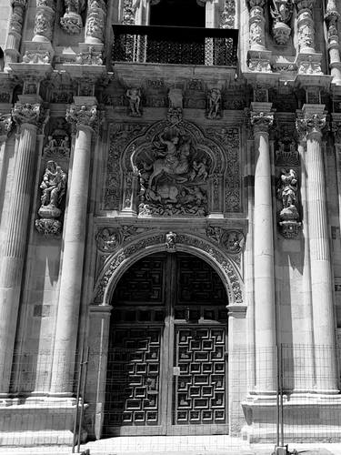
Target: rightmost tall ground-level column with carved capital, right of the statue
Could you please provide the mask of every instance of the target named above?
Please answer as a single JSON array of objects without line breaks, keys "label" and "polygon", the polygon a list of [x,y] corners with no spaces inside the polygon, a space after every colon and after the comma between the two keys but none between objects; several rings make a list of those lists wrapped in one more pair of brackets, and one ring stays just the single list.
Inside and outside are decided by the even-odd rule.
[{"label": "rightmost tall ground-level column with carved capital, right of the statue", "polygon": [[322,155],[322,130],[326,126],[324,105],[303,106],[297,129],[306,134],[307,206],[313,329],[315,341],[316,392],[337,389],[333,279],[326,212],[326,179]]}]

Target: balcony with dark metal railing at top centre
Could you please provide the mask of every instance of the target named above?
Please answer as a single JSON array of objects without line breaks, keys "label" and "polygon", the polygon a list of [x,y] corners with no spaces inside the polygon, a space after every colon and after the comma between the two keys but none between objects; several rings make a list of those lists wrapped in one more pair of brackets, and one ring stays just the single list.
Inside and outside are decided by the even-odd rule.
[{"label": "balcony with dark metal railing at top centre", "polygon": [[117,76],[176,82],[205,78],[226,82],[236,75],[238,31],[234,29],[113,25],[112,60]]}]

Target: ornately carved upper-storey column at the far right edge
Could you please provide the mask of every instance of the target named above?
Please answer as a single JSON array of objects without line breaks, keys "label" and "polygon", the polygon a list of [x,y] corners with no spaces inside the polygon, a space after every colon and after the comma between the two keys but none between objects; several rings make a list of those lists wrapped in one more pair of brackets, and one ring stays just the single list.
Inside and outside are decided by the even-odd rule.
[{"label": "ornately carved upper-storey column at the far right edge", "polygon": [[336,9],[336,0],[328,0],[326,4],[326,30],[328,34],[328,51],[329,51],[329,66],[330,73],[333,78],[333,83],[336,86],[341,85],[341,60],[340,60],[340,45],[337,32],[337,22],[340,17]]}]

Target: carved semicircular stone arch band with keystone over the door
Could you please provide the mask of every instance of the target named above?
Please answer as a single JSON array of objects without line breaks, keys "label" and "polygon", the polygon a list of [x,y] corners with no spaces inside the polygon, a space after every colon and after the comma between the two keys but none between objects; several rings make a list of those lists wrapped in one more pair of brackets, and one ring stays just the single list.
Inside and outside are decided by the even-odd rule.
[{"label": "carved semicircular stone arch band with keystone over the door", "polygon": [[[173,233],[172,233],[173,234]],[[110,255],[96,281],[94,301],[96,304],[110,303],[115,285],[125,270],[136,260],[146,254],[169,250],[167,232],[152,232],[148,237],[136,239]],[[243,281],[233,261],[215,244],[205,238],[196,237],[187,233],[175,233],[176,251],[186,251],[203,258],[216,269],[226,284],[229,304],[243,303]]]}]

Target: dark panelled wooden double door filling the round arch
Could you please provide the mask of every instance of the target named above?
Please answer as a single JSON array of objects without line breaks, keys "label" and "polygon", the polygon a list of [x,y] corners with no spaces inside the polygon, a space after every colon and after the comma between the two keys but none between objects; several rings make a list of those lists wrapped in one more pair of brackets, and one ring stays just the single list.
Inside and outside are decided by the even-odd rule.
[{"label": "dark panelled wooden double door filling the round arch", "polygon": [[104,436],[227,432],[227,296],[186,253],[138,260],[112,299]]}]

